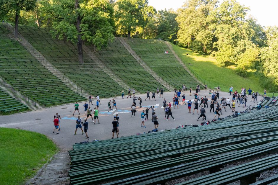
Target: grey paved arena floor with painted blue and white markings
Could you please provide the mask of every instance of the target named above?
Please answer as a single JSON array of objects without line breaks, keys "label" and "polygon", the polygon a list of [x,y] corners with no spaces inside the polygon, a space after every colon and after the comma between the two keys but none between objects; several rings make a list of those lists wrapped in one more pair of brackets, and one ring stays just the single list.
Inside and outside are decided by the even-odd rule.
[{"label": "grey paved arena floor with painted blue and white markings", "polygon": [[[193,93],[194,94],[194,93]],[[171,101],[173,98],[174,92],[164,92],[163,97],[166,98],[167,102]],[[159,98],[159,96],[156,96],[156,101],[145,101],[146,94],[140,94],[136,95],[140,96],[142,101],[142,108],[139,108],[139,101],[136,100],[137,104],[137,113],[135,113],[135,117],[131,117],[131,104],[133,102],[132,99],[125,96],[125,99],[122,99],[122,97],[116,97],[116,103],[118,110],[114,109],[113,112],[107,112],[108,110],[108,101],[112,100],[112,98],[109,99],[101,99],[101,106],[99,108],[99,119],[100,124],[94,125],[92,120],[89,119],[89,126],[88,126],[88,135],[89,139],[85,139],[85,133],[82,135],[82,132],[80,129],[77,130],[77,135],[73,135],[75,131],[75,120],[78,117],[78,112],[75,112],[75,115],[72,116],[72,113],[74,112],[74,104],[67,104],[67,105],[61,105],[57,107],[51,107],[46,109],[41,109],[37,111],[32,112],[25,112],[25,113],[19,113],[19,114],[13,114],[13,115],[7,115],[7,116],[0,116],[0,127],[8,127],[8,128],[18,128],[18,129],[24,129],[24,130],[30,130],[42,133],[46,136],[48,136],[50,139],[52,139],[61,149],[63,150],[70,150],[72,149],[72,145],[75,143],[79,143],[82,141],[92,141],[92,140],[106,140],[111,139],[112,137],[112,121],[114,114],[119,114],[119,137],[122,136],[129,136],[129,135],[136,135],[136,133],[147,133],[149,130],[154,129],[154,125],[150,120],[151,117],[151,110],[149,110],[149,120],[145,122],[145,125],[147,128],[140,127],[141,125],[141,117],[140,114],[143,109],[146,109],[146,107],[150,107],[151,105],[155,106],[156,109],[156,115],[158,117],[159,122],[159,130],[165,130],[165,129],[172,129],[176,128],[179,125],[199,125],[202,122],[202,119],[200,118],[199,121],[197,121],[197,118],[199,115],[196,113],[194,115],[188,113],[188,105],[179,105],[179,109],[172,109],[173,117],[176,121],[174,121],[172,118],[170,118],[168,121],[164,119],[164,112],[163,112],[163,98]],[[199,96],[209,96],[208,91],[202,90],[199,93]],[[219,97],[226,97],[229,99],[232,99],[232,96],[229,95],[229,93],[226,92],[220,92]],[[101,98],[101,97],[100,97]],[[209,98],[209,97],[208,97]],[[191,99],[193,101],[194,96],[189,96],[189,91],[185,91],[185,99],[186,102]],[[210,98],[209,98],[210,99]],[[247,105],[254,106],[257,103],[250,102],[251,97],[247,100]],[[261,96],[258,96],[258,102],[262,99]],[[180,100],[181,102],[181,100]],[[87,101],[88,103],[88,101]],[[80,110],[80,117],[83,119],[86,118],[84,108],[83,108],[84,102],[79,102],[79,110]],[[93,104],[96,104],[96,101],[93,102]],[[210,104],[210,100],[208,101],[208,104]],[[236,104],[236,111],[240,112],[245,110],[246,108],[243,108],[242,105],[240,107],[237,107],[239,104]],[[95,106],[91,106],[95,107]],[[193,112],[194,106],[192,106],[191,113]],[[53,134],[54,129],[54,123],[53,123],[53,116],[58,112],[59,115],[61,115],[62,119],[60,121],[60,134],[56,135]],[[222,111],[223,115],[220,117],[226,117],[229,115],[232,115],[232,111],[227,108],[227,112],[224,110]],[[209,112],[209,108],[206,109],[206,116],[207,120],[212,120],[214,117],[213,112]],[[114,138],[117,137],[116,134]],[[147,141],[146,141],[147,142]],[[43,144],[43,143],[42,143]]]}]

